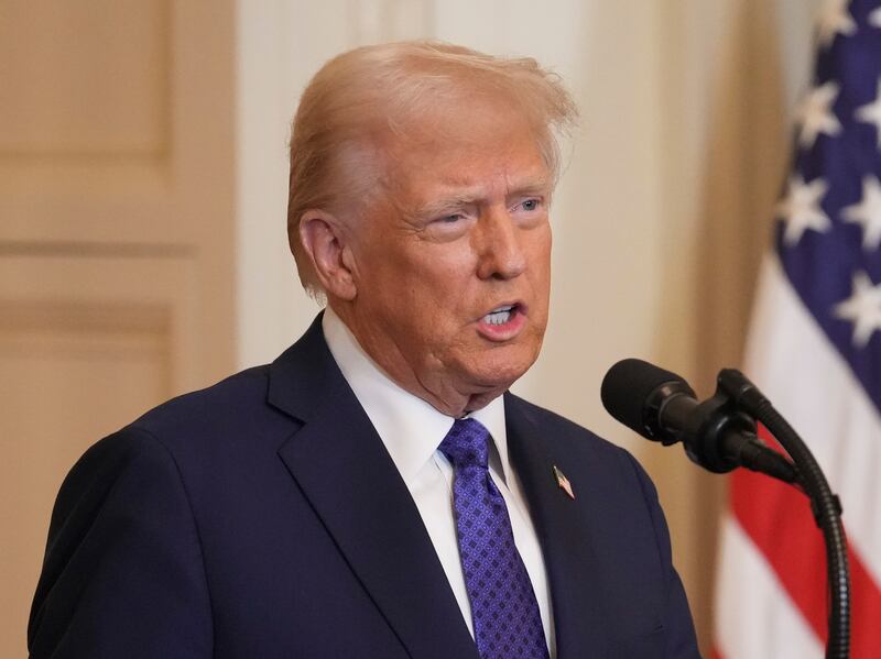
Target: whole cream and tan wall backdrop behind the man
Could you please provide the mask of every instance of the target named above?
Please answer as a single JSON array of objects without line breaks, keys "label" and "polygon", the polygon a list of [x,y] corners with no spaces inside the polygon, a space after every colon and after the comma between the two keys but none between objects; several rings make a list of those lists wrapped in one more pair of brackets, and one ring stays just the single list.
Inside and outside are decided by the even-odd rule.
[{"label": "whole cream and tan wall backdrop behind the man", "polygon": [[414,36],[534,56],[579,100],[552,325],[516,389],[648,466],[706,650],[725,480],[619,428],[599,383],[641,356],[706,395],[738,363],[815,4],[0,0],[0,656],[24,653],[75,457],[311,321],[284,234],[297,95],[329,56]]}]

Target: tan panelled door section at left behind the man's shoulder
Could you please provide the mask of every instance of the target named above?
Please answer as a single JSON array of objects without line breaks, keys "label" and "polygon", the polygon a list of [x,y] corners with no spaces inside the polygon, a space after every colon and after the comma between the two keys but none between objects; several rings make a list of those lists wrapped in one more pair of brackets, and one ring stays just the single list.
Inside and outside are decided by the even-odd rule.
[{"label": "tan panelled door section at left behind the man's shoulder", "polygon": [[232,8],[0,2],[0,657],[74,461],[233,367]]}]

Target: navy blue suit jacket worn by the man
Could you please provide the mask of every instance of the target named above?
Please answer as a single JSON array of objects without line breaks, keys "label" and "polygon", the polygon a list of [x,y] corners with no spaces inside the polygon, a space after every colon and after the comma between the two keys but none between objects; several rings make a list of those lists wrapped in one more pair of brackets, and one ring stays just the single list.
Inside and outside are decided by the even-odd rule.
[{"label": "navy blue suit jacket worn by the man", "polygon": [[[516,396],[504,405],[559,657],[697,657],[641,468]],[[79,460],[53,512],[29,646],[57,659],[477,659],[318,321],[271,365],[171,400]]]}]

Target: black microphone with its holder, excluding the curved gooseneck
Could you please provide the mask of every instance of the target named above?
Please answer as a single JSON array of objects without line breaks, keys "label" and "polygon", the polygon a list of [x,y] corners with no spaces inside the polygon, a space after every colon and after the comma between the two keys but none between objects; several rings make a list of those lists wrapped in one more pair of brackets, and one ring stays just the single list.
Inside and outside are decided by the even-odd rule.
[{"label": "black microphone with its holder, excluding the curved gooseneck", "polygon": [[699,403],[675,373],[629,359],[609,369],[600,396],[624,426],[664,446],[683,442],[688,458],[711,472],[746,466],[786,483],[798,480],[795,466],[757,437],[755,421],[721,386]]}]

